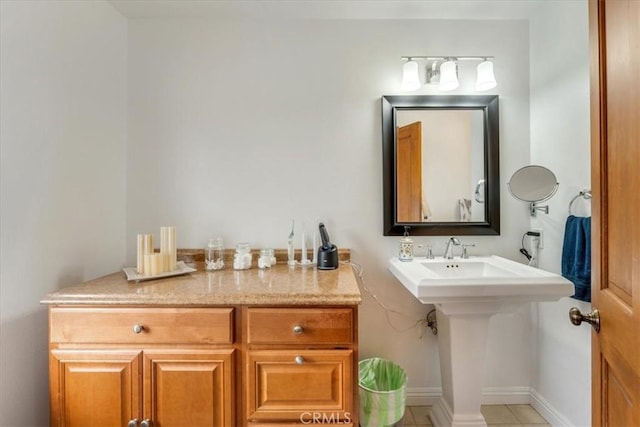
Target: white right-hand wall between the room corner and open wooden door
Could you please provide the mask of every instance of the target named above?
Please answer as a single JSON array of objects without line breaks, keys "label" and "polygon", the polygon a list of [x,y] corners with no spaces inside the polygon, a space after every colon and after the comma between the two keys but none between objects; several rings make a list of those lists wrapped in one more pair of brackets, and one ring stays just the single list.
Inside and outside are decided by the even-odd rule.
[{"label": "white right-hand wall between the room corner and open wooden door", "polygon": [[[539,214],[532,226],[544,230],[540,268],[557,273],[569,202],[590,188],[588,43],[586,1],[546,2],[531,20],[531,161],[560,182],[549,215]],[[589,202],[577,200],[573,213],[588,216]],[[533,307],[532,386],[554,425],[590,426],[591,330],[571,325],[572,306],[590,311],[589,303],[570,298]]]}]

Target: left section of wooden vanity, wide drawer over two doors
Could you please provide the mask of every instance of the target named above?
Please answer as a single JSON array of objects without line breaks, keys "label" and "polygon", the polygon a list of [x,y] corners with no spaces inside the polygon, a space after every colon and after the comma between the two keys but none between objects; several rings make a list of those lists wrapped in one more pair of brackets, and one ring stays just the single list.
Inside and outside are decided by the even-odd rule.
[{"label": "left section of wooden vanity, wide drawer over two doors", "polygon": [[233,311],[51,307],[51,425],[235,425]]}]

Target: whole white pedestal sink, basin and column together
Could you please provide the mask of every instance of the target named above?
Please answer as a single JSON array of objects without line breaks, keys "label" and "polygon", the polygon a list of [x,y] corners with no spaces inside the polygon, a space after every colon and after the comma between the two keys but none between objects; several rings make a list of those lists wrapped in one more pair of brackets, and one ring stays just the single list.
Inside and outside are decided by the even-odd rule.
[{"label": "whole white pedestal sink, basin and column together", "polygon": [[468,259],[392,258],[389,270],[423,304],[434,304],[442,397],[434,426],[486,427],[480,413],[489,318],[533,301],[573,295],[562,276],[499,256]]}]

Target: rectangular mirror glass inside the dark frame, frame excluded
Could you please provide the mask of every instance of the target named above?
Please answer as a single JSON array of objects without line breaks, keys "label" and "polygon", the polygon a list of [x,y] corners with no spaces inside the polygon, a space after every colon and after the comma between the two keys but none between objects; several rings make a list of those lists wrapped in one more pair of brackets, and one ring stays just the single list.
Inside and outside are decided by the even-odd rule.
[{"label": "rectangular mirror glass inside the dark frame, frame excluded", "polygon": [[[477,200],[485,195],[474,196],[478,182],[486,178],[483,112],[403,110],[397,124],[397,222],[484,221],[485,207]],[[418,125],[420,131],[410,130]],[[409,143],[409,138],[414,140]],[[479,189],[486,191],[484,185]]]}]

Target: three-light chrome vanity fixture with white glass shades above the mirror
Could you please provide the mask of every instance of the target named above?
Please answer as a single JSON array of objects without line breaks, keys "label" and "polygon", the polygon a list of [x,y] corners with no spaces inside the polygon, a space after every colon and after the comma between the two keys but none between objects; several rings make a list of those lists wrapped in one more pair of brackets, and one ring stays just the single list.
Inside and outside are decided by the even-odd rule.
[{"label": "three-light chrome vanity fixture with white glass shades above the mirror", "polygon": [[480,61],[476,71],[477,91],[485,91],[497,86],[493,74],[493,56],[403,56],[401,59],[407,61],[402,67],[401,89],[403,91],[418,90],[422,86],[417,61],[426,63],[425,85],[432,87],[437,85],[438,90],[441,91],[454,90],[460,85],[458,61]]}]

